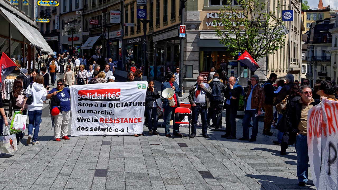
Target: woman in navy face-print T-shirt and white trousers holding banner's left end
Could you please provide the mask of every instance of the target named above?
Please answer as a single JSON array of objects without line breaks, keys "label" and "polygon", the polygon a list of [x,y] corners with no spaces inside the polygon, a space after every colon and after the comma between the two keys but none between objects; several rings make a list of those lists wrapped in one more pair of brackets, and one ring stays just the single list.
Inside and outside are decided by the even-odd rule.
[{"label": "woman in navy face-print T-shirt and white trousers holding banner's left end", "polygon": [[[60,101],[61,112],[53,116],[54,117],[54,139],[55,141],[69,140],[68,135],[68,123],[70,118],[70,91],[69,88],[64,88],[65,83],[62,79],[56,81],[56,88],[53,88],[48,92],[47,99],[51,99],[52,96]],[[57,109],[57,108],[56,108]]]}]

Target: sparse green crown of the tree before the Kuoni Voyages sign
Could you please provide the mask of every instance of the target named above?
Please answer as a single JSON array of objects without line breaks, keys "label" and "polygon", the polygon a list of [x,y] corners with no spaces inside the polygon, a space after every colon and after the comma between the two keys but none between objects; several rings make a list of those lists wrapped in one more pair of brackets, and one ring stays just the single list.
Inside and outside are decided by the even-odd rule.
[{"label": "sparse green crown of the tree before the Kuoni Voyages sign", "polygon": [[[274,54],[284,47],[285,35],[281,32],[282,17],[279,4],[267,12],[267,1],[238,0],[238,5],[224,5],[214,20],[216,36],[233,56],[245,50],[254,58]],[[229,3],[231,4],[231,2]]]}]

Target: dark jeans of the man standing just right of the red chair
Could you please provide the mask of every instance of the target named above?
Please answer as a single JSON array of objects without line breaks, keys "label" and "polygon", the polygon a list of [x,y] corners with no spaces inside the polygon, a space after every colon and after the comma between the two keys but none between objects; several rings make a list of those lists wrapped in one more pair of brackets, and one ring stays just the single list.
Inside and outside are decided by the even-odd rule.
[{"label": "dark jeans of the man standing just right of the red chair", "polygon": [[197,128],[197,119],[198,115],[201,114],[201,123],[202,123],[202,135],[207,135],[207,106],[202,107],[201,105],[197,105],[192,107],[192,128],[191,134],[196,135]]}]

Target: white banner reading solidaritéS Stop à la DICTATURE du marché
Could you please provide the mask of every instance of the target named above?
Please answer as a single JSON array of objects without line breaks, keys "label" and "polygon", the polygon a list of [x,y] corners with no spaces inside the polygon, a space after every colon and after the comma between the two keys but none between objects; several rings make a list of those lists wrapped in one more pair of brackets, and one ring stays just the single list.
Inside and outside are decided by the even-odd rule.
[{"label": "white banner reading solidarit\u00e9S Stop \u00e0 la DICTATURE du march\u00e9", "polygon": [[143,132],[147,81],[73,85],[72,136]]}]

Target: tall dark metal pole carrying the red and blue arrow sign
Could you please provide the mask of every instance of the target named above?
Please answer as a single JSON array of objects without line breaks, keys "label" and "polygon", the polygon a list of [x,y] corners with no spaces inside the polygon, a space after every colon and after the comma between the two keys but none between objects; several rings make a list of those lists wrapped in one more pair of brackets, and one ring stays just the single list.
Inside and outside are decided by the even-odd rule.
[{"label": "tall dark metal pole carrying the red and blue arrow sign", "polygon": [[[181,2],[181,25],[184,25],[186,20],[185,18],[185,7],[187,0],[179,0]],[[180,37],[180,46],[179,46],[179,89],[183,89],[183,60],[184,60],[184,38]],[[182,91],[183,92],[183,91]],[[183,93],[178,94],[179,97],[182,97]]]}]

